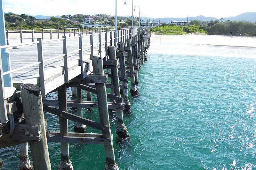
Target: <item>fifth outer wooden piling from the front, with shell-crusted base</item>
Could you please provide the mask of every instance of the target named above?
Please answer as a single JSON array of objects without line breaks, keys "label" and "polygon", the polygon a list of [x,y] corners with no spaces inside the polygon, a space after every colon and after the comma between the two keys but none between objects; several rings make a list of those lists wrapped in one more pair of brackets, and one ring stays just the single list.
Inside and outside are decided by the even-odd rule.
[{"label": "fifth outer wooden piling from the front, with shell-crusted base", "polygon": [[[130,39],[126,39],[126,42],[127,42],[127,47],[132,47]],[[133,74],[133,77],[131,77],[132,85],[131,85],[130,93],[132,96],[138,96],[140,93],[138,92],[138,90],[136,88],[136,84],[135,84],[134,66],[133,66],[133,60],[132,60],[132,50],[128,50],[127,53],[128,53],[130,72]]]}]

